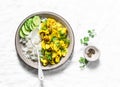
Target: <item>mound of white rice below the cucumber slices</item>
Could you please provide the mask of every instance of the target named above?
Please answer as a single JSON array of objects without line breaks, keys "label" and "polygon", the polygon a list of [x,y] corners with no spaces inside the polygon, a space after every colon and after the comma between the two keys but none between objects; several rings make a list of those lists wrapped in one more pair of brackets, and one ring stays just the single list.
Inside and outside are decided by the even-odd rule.
[{"label": "mound of white rice below the cucumber slices", "polygon": [[[22,51],[26,58],[29,58],[33,61],[37,61],[37,49],[41,48],[40,45],[40,37],[37,36],[37,34],[34,34],[34,31],[31,31],[31,33],[25,38],[25,39],[20,39],[20,42],[23,44],[22,46]],[[32,42],[31,42],[32,40]],[[34,46],[34,45],[36,46]]]}]

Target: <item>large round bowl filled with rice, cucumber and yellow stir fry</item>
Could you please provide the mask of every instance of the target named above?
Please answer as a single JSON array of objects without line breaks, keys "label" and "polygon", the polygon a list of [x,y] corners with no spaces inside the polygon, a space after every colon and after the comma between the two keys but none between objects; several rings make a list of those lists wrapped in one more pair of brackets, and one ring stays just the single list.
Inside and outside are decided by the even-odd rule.
[{"label": "large round bowl filled with rice, cucumber and yellow stir fry", "polygon": [[[35,30],[37,33],[34,33]],[[18,56],[27,65],[37,69],[37,53],[31,39],[40,48],[42,70],[52,70],[64,65],[74,50],[71,26],[63,17],[53,12],[29,15],[16,31],[15,47]]]}]

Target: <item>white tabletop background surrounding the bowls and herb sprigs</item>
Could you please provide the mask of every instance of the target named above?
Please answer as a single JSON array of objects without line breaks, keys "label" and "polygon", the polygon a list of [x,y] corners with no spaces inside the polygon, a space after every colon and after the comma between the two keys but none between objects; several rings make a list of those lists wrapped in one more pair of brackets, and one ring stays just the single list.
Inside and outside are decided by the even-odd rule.
[{"label": "white tabletop background surrounding the bowls and herb sprigs", "polygon": [[[63,16],[76,41],[70,65],[47,74],[43,87],[120,87],[120,0],[0,0],[0,87],[39,87],[37,74],[20,62],[14,44],[20,22],[39,11]],[[100,49],[101,57],[81,70],[80,38],[92,28],[98,36],[91,44]]]}]

